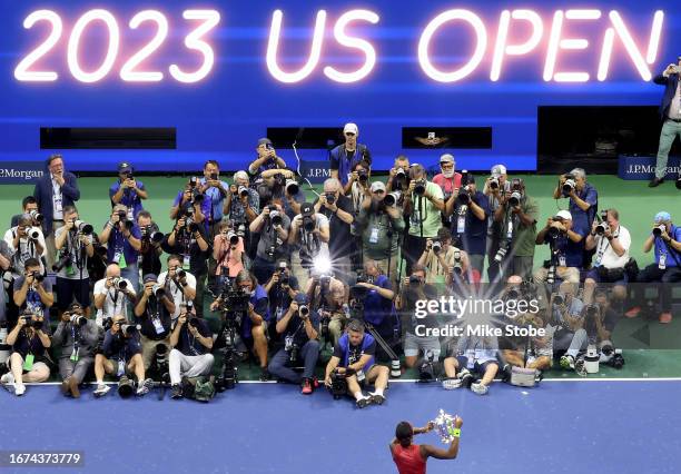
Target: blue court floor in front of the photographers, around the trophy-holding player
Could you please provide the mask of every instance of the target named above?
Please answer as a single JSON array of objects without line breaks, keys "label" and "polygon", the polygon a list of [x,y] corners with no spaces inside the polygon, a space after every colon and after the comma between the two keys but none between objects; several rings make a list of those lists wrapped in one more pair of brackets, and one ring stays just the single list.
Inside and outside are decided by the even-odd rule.
[{"label": "blue court floor in front of the photographers, around the trophy-holding player", "polygon": [[0,397],[2,450],[82,451],[85,467],[73,472],[391,473],[396,423],[422,425],[440,408],[464,418],[461,451],[431,460],[430,473],[681,472],[680,379],[495,384],[487,396],[393,383],[385,405],[362,411],[280,384],[240,384],[207,405],[156,393],[122,401],[114,391],[96,401],[89,389],[72,401],[55,386]]}]

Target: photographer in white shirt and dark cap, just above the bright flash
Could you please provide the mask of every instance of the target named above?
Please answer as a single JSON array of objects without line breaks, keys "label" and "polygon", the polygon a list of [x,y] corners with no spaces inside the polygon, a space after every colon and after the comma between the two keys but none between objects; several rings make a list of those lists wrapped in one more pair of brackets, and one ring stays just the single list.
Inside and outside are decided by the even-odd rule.
[{"label": "photographer in white shirt and dark cap, just above the bright flash", "polygon": [[303,203],[300,214],[294,217],[288,233],[288,245],[299,248],[300,265],[296,266],[294,259],[293,269],[302,288],[307,286],[309,271],[315,261],[329,260],[329,236],[328,218],[323,214],[315,213],[312,204]]}]

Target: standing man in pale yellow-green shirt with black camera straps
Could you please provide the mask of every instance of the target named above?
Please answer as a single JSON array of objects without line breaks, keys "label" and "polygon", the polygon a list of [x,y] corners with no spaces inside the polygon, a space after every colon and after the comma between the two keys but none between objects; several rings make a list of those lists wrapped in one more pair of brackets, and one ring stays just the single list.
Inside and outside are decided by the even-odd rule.
[{"label": "standing man in pale yellow-green shirt with black camera straps", "polygon": [[407,273],[423,254],[426,240],[437,236],[442,227],[441,211],[445,209],[442,189],[426,179],[423,166],[412,166],[409,178],[409,187],[404,197],[404,214],[409,216],[409,230],[402,248]]}]

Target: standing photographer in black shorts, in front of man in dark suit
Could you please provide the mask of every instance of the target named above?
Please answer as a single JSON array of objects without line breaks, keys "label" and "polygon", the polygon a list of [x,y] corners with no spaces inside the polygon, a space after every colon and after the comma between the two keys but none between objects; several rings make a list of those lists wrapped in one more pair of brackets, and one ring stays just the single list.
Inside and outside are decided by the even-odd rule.
[{"label": "standing photographer in black shorts, in front of man in dark suit", "polygon": [[63,207],[63,227],[55,233],[55,247],[59,251],[59,260],[52,267],[57,271],[57,307],[65,312],[76,300],[89,316],[88,259],[95,255],[92,226],[79,219],[73,206]]}]

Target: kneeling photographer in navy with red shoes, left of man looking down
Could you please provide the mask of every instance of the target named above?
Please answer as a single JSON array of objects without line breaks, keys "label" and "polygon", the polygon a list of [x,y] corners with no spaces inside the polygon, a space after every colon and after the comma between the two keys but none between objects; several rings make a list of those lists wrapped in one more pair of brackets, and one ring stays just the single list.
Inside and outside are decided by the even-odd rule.
[{"label": "kneeling photographer in navy with red shoes, left of man looking down", "polygon": [[[279,381],[302,385],[302,393],[309,395],[316,385],[315,367],[319,357],[319,315],[309,308],[304,293],[298,293],[286,313],[277,317],[277,334],[284,347],[269,362],[269,373]],[[303,374],[292,366],[303,363]]]}]

